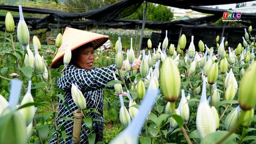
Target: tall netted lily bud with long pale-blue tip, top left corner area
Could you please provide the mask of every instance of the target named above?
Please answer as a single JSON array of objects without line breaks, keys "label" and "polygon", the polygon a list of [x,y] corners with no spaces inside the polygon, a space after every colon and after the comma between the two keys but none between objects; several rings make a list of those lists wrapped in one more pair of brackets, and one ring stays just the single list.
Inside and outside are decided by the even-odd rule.
[{"label": "tall netted lily bud with long pale-blue tip, top left corner area", "polygon": [[28,26],[24,20],[21,5],[19,5],[19,23],[17,26],[17,37],[23,50],[27,49],[29,42]]}]

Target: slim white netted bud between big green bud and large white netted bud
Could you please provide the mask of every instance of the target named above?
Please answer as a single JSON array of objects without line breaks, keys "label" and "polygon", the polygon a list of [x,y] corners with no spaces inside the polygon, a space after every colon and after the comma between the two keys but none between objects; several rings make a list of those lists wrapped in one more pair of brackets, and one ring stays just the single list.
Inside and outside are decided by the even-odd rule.
[{"label": "slim white netted bud between big green bud and large white netted bud", "polygon": [[185,97],[184,90],[181,90],[181,100],[180,100],[180,116],[184,119],[184,123],[187,124],[190,118],[190,108],[188,100]]}]

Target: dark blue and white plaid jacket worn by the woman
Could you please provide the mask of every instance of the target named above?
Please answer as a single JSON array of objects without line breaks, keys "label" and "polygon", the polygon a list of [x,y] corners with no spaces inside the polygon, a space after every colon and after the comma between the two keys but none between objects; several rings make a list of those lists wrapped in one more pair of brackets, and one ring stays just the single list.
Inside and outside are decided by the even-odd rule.
[{"label": "dark blue and white plaid jacket worn by the woman", "polygon": [[[61,127],[61,131],[65,130],[66,135],[70,135],[66,138],[66,142],[62,139],[60,141],[61,144],[72,144],[73,121],[59,120],[62,117],[74,118],[73,111],[78,109],[71,96],[72,83],[76,83],[79,90],[84,94],[86,108],[95,108],[100,113],[91,113],[90,116],[93,120],[97,120],[93,122],[93,125],[96,127],[96,140],[103,141],[103,88],[109,81],[114,80],[113,71],[116,71],[114,64],[106,68],[92,68],[90,71],[76,68],[74,65],[68,65],[63,71],[63,76],[57,78],[57,88],[65,92],[64,104],[70,108],[68,110],[64,104],[59,106],[57,126]],[[57,98],[57,100],[59,103],[63,103],[61,99]],[[53,135],[56,136],[55,133]],[[89,135],[89,130],[86,128],[85,123],[82,122],[80,144],[88,143],[87,135]],[[57,144],[56,139],[51,139],[49,144]]]}]

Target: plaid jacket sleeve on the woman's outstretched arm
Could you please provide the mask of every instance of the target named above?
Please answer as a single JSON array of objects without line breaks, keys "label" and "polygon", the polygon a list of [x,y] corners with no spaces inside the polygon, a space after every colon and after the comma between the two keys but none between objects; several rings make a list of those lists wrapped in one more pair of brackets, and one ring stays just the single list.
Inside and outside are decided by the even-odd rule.
[{"label": "plaid jacket sleeve on the woman's outstretched arm", "polygon": [[90,71],[79,69],[75,66],[70,66],[63,72],[63,81],[66,84],[63,87],[71,88],[72,83],[76,83],[82,91],[97,90],[104,88],[105,85],[114,80],[113,73],[116,71],[115,65],[110,65],[105,68],[93,68]]}]

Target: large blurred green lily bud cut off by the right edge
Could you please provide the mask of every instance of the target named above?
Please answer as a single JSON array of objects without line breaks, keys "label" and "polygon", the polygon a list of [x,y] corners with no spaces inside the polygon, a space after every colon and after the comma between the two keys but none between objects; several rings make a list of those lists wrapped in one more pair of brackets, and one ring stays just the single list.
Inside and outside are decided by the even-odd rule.
[{"label": "large blurred green lily bud cut off by the right edge", "polygon": [[239,85],[238,102],[243,110],[250,110],[256,105],[256,63],[250,64]]}]

